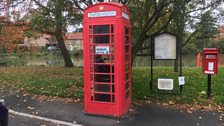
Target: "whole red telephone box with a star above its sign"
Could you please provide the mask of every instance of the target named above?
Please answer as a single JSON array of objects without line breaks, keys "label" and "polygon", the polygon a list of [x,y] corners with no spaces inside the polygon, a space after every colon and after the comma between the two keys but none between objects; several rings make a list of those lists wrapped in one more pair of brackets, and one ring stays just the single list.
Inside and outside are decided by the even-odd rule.
[{"label": "whole red telephone box with a star above its sign", "polygon": [[102,2],[84,10],[84,100],[88,114],[120,117],[131,105],[129,10]]}]

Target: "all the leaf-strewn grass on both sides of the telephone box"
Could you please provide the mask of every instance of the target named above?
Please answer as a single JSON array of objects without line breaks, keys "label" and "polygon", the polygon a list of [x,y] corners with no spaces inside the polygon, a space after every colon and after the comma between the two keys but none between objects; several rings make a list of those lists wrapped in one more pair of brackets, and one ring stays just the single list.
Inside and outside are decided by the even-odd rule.
[{"label": "all the leaf-strewn grass on both sides of the telephone box", "polygon": [[[207,75],[200,68],[183,68],[185,86],[179,95],[178,76],[173,68],[154,68],[153,92],[150,92],[150,68],[133,68],[133,100],[174,101],[175,103],[204,103],[207,101]],[[212,98],[224,104],[224,68],[212,76]],[[157,79],[174,79],[174,94],[158,92]],[[2,67],[0,88],[25,91],[30,94],[58,96],[83,100],[83,68],[64,67]]]}]

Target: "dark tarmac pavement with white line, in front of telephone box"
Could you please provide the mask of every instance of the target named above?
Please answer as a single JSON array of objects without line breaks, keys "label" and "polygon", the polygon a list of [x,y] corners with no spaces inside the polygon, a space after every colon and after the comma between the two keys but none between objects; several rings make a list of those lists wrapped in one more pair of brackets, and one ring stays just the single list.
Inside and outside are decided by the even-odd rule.
[{"label": "dark tarmac pavement with white line, in front of telephone box", "polygon": [[144,105],[123,119],[89,116],[83,104],[38,101],[31,96],[0,91],[10,109],[9,126],[224,126],[223,114]]}]

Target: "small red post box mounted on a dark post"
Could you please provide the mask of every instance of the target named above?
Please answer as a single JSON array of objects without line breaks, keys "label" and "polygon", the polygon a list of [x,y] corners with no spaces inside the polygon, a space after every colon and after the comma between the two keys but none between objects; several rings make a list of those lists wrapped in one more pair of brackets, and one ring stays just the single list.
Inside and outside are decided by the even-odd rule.
[{"label": "small red post box mounted on a dark post", "polygon": [[217,48],[203,49],[203,73],[204,74],[218,73],[218,49]]}]

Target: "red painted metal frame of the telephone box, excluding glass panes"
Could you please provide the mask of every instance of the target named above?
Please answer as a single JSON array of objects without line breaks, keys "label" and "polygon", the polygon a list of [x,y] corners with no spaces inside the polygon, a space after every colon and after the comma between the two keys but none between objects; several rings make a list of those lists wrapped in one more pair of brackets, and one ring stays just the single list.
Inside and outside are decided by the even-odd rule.
[{"label": "red painted metal frame of the telephone box, excluding glass panes", "polygon": [[[106,17],[88,17],[88,13],[91,12],[108,12],[116,11],[116,16],[106,16]],[[131,26],[130,19],[125,18],[122,14],[130,15],[128,8],[122,4],[103,2],[99,4],[92,5],[84,10],[84,20],[83,20],[83,41],[84,41],[84,102],[85,102],[85,112],[88,114],[96,115],[108,115],[114,117],[121,117],[125,115],[131,105],[131,94],[132,94],[132,70],[131,70]],[[129,16],[130,17],[130,16]],[[98,34],[90,33],[90,27],[102,26],[102,25],[113,25],[113,33],[110,33],[109,44],[96,44],[93,41],[94,36]],[[126,28],[126,34],[125,34]],[[128,29],[128,33],[127,33]],[[93,30],[92,30],[93,32]],[[90,36],[92,35],[92,39]],[[101,34],[102,35],[102,34]],[[111,42],[111,36],[114,36],[114,43]],[[128,38],[128,43],[125,43],[125,36]],[[113,47],[114,53],[101,54],[109,55],[110,62],[107,63],[91,63],[98,54],[94,54],[95,46],[109,46],[110,51]],[[114,55],[114,60],[112,62],[111,58]],[[90,66],[93,66],[91,69]],[[95,65],[108,65],[110,66],[110,72],[108,73],[98,73],[95,71]],[[112,72],[112,67],[114,71]],[[125,70],[126,69],[126,70]],[[110,75],[110,82],[96,82],[93,75]],[[114,82],[112,82],[112,76],[114,76]],[[92,80],[91,80],[92,79]],[[110,91],[96,92],[96,84],[110,85]],[[114,89],[112,89],[114,85]],[[114,90],[114,91],[112,91]],[[108,94],[110,95],[109,101],[97,101],[95,94]],[[113,97],[114,96],[114,100]]]}]

